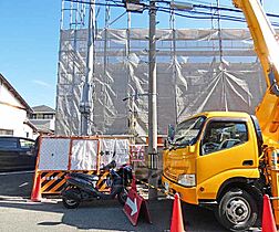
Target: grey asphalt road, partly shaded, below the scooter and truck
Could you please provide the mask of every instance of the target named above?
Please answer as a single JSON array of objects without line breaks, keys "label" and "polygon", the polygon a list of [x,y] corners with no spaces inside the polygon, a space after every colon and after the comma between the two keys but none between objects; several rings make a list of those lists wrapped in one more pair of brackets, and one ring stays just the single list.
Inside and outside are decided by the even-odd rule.
[{"label": "grey asphalt road, partly shaded, below the scooter and truck", "polygon": [[[0,173],[0,231],[168,231],[173,200],[148,201],[152,224],[144,217],[133,226],[117,200],[83,203],[65,209],[60,199],[29,200],[33,173]],[[224,230],[210,210],[183,204],[186,231]]]}]

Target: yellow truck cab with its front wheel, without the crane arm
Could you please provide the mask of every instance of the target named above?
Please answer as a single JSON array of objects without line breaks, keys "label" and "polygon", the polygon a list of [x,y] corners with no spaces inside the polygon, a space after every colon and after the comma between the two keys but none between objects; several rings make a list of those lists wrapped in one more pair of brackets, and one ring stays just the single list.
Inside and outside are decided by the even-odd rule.
[{"label": "yellow truck cab with its front wheel, without the crane arm", "polygon": [[207,112],[168,134],[162,177],[166,190],[187,203],[215,205],[217,219],[229,230],[251,226],[262,197],[262,136],[256,117]]}]

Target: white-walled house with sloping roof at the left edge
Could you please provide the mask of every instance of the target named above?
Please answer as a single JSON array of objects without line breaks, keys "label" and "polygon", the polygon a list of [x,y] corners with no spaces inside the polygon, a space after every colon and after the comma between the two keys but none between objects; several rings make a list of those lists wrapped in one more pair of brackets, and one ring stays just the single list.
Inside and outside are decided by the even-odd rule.
[{"label": "white-walled house with sloping roof at the left edge", "polygon": [[32,108],[0,74],[0,136],[35,138],[37,129],[28,120]]}]

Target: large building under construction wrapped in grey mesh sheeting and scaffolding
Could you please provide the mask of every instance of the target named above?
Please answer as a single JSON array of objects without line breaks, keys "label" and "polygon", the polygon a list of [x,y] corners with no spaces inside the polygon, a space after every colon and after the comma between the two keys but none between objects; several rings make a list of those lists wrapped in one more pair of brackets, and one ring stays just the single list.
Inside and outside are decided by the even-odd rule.
[{"label": "large building under construction wrapped in grey mesh sheeting and scaffolding", "polygon": [[[92,22],[92,75],[87,80],[90,134],[146,136],[148,123],[148,28],[131,27],[133,13],[120,15],[127,23],[113,28],[113,8],[101,6],[104,27]],[[58,135],[80,135],[81,97],[86,82],[89,4],[62,1]],[[215,12],[215,14],[218,12]],[[168,124],[205,110],[241,110],[254,114],[265,93],[261,65],[247,29],[221,29],[213,13],[208,29],[169,27],[156,30],[158,134]],[[117,18],[116,18],[117,20]],[[215,23],[215,21],[217,23]],[[186,27],[185,27],[186,28]]]}]

